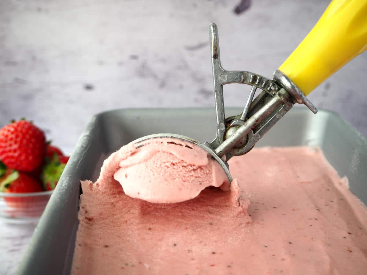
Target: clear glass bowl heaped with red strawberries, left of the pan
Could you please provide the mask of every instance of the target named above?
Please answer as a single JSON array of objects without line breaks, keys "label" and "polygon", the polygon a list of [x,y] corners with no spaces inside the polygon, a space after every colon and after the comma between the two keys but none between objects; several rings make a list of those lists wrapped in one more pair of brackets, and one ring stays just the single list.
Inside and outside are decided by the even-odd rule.
[{"label": "clear glass bowl heaped with red strawberries, left of the pan", "polygon": [[0,217],[11,223],[36,222],[69,157],[32,121],[0,129]]}]

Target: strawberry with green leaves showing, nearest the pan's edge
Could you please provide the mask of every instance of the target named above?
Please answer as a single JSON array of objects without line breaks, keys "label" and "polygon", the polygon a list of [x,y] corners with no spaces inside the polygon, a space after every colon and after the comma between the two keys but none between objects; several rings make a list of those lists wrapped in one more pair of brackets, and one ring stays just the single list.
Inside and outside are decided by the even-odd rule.
[{"label": "strawberry with green leaves showing, nearest the pan's edge", "polygon": [[55,189],[68,160],[69,157],[54,154],[52,161],[43,170],[42,180],[45,190]]}]

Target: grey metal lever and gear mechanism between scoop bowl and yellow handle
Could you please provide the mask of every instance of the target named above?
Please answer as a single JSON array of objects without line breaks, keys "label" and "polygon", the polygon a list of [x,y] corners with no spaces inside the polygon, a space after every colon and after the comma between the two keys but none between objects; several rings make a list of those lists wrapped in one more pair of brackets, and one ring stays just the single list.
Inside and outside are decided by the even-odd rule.
[{"label": "grey metal lever and gear mechanism between scoop bowl and yellow handle", "polygon": [[[305,104],[313,113],[316,107],[301,90],[280,71],[270,80],[259,74],[223,69],[219,54],[218,29],[210,24],[210,49],[214,80],[217,136],[204,145],[214,150],[225,162],[231,157],[248,153],[261,137],[286,114],[294,103]],[[241,114],[225,118],[223,85],[251,85],[251,91]],[[260,94],[254,99],[257,89]],[[228,164],[227,164],[228,165]]]}]

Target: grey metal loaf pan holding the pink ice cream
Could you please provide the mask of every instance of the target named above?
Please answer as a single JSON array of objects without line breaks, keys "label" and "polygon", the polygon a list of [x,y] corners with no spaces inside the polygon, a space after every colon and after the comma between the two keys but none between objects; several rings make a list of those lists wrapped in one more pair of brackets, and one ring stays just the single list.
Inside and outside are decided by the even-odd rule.
[{"label": "grey metal loaf pan holding the pink ice cream", "polygon": [[[226,109],[226,115],[241,112]],[[177,133],[200,142],[215,137],[214,108],[113,110],[95,115],[51,196],[29,243],[18,274],[70,274],[78,228],[80,179],[96,180],[103,159],[138,137]],[[339,115],[314,115],[294,107],[257,146],[319,146],[350,189],[367,204],[367,141]],[[302,169],[300,167],[299,169]]]}]

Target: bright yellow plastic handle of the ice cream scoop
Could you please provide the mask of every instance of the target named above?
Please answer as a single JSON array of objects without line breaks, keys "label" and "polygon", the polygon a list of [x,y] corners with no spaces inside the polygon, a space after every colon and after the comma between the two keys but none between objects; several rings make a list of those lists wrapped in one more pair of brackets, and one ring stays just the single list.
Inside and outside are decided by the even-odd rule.
[{"label": "bright yellow plastic handle of the ice cream scoop", "polygon": [[366,49],[367,0],[333,0],[278,70],[308,95]]}]

